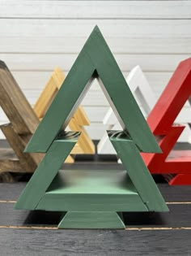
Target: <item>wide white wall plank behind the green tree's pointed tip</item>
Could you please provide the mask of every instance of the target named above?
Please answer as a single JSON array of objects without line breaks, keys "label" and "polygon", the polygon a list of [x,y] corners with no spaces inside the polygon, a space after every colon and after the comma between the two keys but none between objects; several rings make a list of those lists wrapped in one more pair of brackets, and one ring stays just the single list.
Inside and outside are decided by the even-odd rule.
[{"label": "wide white wall plank behind the green tree's pointed tip", "polygon": [[1,20],[0,52],[79,53],[96,24],[114,53],[191,52],[191,20],[16,19]]}]

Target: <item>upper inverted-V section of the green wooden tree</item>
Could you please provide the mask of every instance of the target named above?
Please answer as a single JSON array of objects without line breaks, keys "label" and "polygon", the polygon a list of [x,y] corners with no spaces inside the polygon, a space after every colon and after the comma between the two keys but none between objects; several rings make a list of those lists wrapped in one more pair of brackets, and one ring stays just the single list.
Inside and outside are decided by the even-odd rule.
[{"label": "upper inverted-V section of the green wooden tree", "polygon": [[68,124],[70,116],[90,85],[89,81],[96,76],[100,76],[104,93],[108,96],[113,109],[117,111],[117,118],[138,148],[144,152],[161,152],[97,26],[29,141],[26,152],[46,152],[49,149],[62,124],[64,127]]}]

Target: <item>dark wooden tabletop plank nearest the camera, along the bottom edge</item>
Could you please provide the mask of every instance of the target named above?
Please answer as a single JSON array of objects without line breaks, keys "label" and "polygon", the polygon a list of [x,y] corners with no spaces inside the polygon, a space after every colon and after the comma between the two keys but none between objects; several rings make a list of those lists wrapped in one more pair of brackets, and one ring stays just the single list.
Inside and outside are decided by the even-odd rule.
[{"label": "dark wooden tabletop plank nearest the camera, along the bottom edge", "polygon": [[[103,231],[0,229],[6,255],[189,255],[189,230]],[[7,241],[8,240],[8,241]],[[180,241],[177,243],[177,241]],[[127,246],[128,245],[128,246]],[[171,246],[169,246],[171,245]]]}]

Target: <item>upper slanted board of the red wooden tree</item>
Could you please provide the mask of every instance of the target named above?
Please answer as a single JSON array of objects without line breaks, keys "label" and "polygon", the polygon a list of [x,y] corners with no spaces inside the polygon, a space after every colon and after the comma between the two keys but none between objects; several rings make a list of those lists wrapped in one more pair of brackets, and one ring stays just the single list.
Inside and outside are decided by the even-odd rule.
[{"label": "upper slanted board of the red wooden tree", "polygon": [[182,61],[156,102],[147,123],[155,135],[165,135],[191,94],[191,58]]}]

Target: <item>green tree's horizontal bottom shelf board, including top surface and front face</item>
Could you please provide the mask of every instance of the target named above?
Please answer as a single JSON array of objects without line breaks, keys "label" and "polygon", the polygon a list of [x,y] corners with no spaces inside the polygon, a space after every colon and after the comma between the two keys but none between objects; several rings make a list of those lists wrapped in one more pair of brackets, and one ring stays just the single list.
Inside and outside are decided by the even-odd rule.
[{"label": "green tree's horizontal bottom shelf board, including top surface and front face", "polygon": [[62,170],[41,198],[37,210],[148,211],[121,170]]}]

